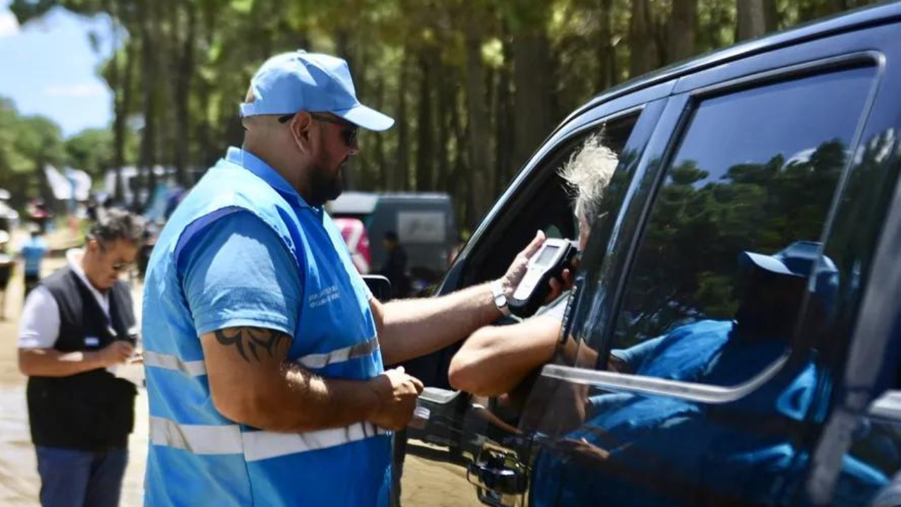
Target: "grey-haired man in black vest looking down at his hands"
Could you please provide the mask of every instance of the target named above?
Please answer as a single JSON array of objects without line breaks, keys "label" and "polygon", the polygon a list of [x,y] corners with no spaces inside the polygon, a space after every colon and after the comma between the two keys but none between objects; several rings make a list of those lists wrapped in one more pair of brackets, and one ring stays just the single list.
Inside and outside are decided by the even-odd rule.
[{"label": "grey-haired man in black vest looking down at his hands", "polygon": [[119,503],[135,386],[114,375],[136,335],[132,294],[119,275],[141,246],[141,218],[111,209],[89,227],[84,250],[25,300],[19,369],[43,507]]}]

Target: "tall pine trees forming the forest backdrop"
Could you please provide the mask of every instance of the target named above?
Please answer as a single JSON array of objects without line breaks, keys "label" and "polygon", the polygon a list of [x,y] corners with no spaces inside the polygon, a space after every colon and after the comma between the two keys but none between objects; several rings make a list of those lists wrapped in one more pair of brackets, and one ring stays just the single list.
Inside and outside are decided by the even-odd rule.
[{"label": "tall pine trees forming the forest backdrop", "polygon": [[56,6],[111,20],[114,53],[102,76],[114,92],[112,135],[67,143],[88,171],[135,163],[153,184],[147,170],[164,164],[190,184],[194,170],[241,143],[238,104],[253,71],[276,52],[305,48],[349,60],[359,97],[398,120],[385,134],[360,135],[351,188],[447,191],[461,223],[474,226],[553,126],[596,93],[858,1],[14,0],[11,8],[20,23]]}]

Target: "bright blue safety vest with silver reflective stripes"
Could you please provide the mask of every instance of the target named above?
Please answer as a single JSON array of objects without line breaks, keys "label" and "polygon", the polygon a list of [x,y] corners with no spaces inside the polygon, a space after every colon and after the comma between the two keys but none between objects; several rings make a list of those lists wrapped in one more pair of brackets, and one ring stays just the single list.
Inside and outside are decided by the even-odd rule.
[{"label": "bright blue safety vest with silver reflective stripes", "polygon": [[261,431],[235,424],[213,405],[177,256],[202,228],[197,224],[236,210],[271,227],[296,260],[303,306],[288,360],[328,378],[363,380],[383,371],[368,292],[331,218],[319,208],[291,207],[241,167],[241,153],[230,150],[197,183],[150,258],[142,319],[150,395],[145,505],[387,505],[385,430],[360,422],[305,433]]}]

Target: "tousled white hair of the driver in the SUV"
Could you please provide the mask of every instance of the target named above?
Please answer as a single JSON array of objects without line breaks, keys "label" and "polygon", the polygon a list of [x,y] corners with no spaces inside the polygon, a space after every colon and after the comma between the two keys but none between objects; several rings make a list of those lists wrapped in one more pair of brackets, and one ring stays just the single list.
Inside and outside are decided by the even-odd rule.
[{"label": "tousled white hair of the driver in the SUV", "polygon": [[601,143],[600,134],[592,134],[560,169],[560,177],[573,193],[576,217],[588,226],[601,212],[601,199],[618,163],[616,153]]}]

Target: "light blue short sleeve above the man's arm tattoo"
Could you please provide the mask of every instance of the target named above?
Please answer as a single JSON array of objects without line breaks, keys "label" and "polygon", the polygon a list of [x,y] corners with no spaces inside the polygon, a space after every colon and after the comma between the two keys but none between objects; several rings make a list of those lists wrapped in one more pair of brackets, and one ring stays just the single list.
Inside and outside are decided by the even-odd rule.
[{"label": "light blue short sleeve above the man's arm tattoo", "polygon": [[178,272],[197,336],[226,327],[266,327],[294,336],[300,278],[275,231],[238,211],[187,241]]}]

